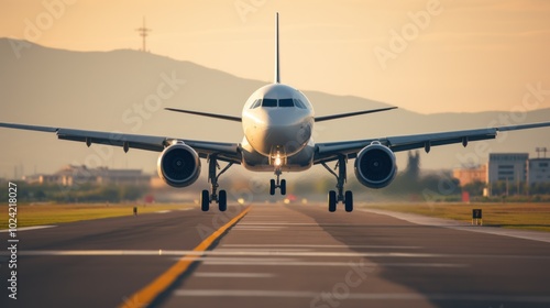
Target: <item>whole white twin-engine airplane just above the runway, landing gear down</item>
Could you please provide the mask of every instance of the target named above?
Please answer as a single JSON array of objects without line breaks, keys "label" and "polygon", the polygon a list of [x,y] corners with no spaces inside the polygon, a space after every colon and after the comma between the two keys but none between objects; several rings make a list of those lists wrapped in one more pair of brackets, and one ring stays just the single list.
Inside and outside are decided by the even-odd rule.
[{"label": "whole white twin-engine airplane just above the runway, landing gear down", "polygon": [[[157,161],[160,177],[169,186],[186,187],[194,184],[201,169],[201,160],[208,163],[209,190],[202,190],[200,205],[202,211],[217,202],[220,211],[227,210],[227,193],[219,188],[218,180],[232,165],[240,164],[252,172],[273,172],[275,179],[270,180],[270,195],[276,189],[286,195],[286,180],[280,179],[283,172],[304,172],[314,165],[322,165],[337,179],[337,190],[328,194],[328,209],[337,210],[341,202],[346,212],[353,211],[353,193],[344,191],[346,162],[355,160],[354,173],[358,180],[370,188],[388,186],[397,173],[396,152],[431,146],[462,143],[465,147],[471,141],[495,139],[498,132],[550,127],[550,122],[496,127],[476,130],[462,130],[439,133],[374,138],[354,141],[315,143],[311,132],[317,122],[356,117],[396,109],[396,107],[363,110],[349,113],[317,117],[308,98],[299,90],[280,82],[278,13],[275,14],[275,80],[273,84],[254,91],[242,109],[241,117],[166,108],[175,112],[210,117],[241,122],[243,139],[241,143],[220,143],[179,138],[119,134],[85,131],[65,128],[37,127],[16,123],[0,123],[2,128],[55,133],[61,140],[121,146],[129,148],[161,152]],[[218,161],[226,162],[221,169]],[[328,163],[336,162],[332,170]]]}]

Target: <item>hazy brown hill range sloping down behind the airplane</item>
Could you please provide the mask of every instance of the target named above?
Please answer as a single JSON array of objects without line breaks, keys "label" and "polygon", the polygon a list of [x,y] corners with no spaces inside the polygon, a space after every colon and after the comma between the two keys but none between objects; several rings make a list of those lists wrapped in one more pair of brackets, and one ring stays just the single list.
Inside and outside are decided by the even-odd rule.
[{"label": "hazy brown hill range sloping down behind the airplane", "polygon": [[[190,62],[129,50],[82,53],[26,43],[29,47],[21,50],[18,58],[13,44],[21,42],[0,38],[2,122],[240,142],[242,131],[235,122],[173,113],[162,108],[240,116],[252,91],[271,81],[243,79]],[[176,84],[166,81],[174,78]],[[319,116],[388,106],[364,98],[302,90]],[[516,114],[510,123],[550,121],[549,101],[540,105],[547,109]],[[518,97],[520,106],[521,97]],[[514,121],[518,116],[525,117]],[[495,111],[426,116],[399,109],[319,123],[315,139],[323,142],[485,128],[503,123],[503,117],[509,118],[509,114]],[[465,150],[461,145],[435,147],[429,155],[422,155],[421,163],[425,168],[451,168],[462,163],[464,160],[460,157],[464,155],[483,163],[490,151],[534,153],[536,146],[550,147],[549,136],[550,130],[542,129],[510,133],[504,142],[483,143],[477,150],[474,143]],[[98,153],[101,148],[56,141],[54,135],[37,132],[2,129],[0,142],[0,177],[11,177],[15,165],[24,165],[25,174],[32,174],[34,168],[42,173],[53,172],[67,163],[128,166],[147,172],[156,167],[156,153],[130,151],[124,155],[121,148]],[[402,168],[405,156],[398,156]]]}]

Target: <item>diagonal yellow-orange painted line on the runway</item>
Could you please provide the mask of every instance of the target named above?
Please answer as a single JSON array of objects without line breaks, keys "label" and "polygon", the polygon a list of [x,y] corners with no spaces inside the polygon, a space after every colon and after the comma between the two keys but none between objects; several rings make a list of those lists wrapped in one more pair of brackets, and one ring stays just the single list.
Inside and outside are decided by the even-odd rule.
[{"label": "diagonal yellow-orange painted line on the runway", "polygon": [[[216,240],[218,240],[229,228],[233,227],[241,218],[243,218],[249,212],[249,210],[250,207],[244,209],[240,215],[238,215],[216,232],[210,234],[210,237],[204,240],[193,251],[207,251]],[[120,305],[120,307],[135,308],[148,306],[158,295],[166,290],[179,276],[182,276],[195,261],[200,258],[201,255],[202,254],[184,255],[176,264],[168,268],[168,271],[164,272],[151,284],[133,294],[129,299],[125,299],[124,302]]]}]

